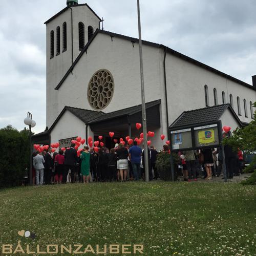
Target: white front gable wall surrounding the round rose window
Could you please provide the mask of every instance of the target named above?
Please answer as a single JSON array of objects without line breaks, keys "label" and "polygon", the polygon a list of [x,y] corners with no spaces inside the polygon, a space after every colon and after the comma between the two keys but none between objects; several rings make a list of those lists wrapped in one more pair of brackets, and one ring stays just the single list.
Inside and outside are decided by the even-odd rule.
[{"label": "white front gable wall surrounding the round rose window", "polygon": [[[144,78],[146,102],[162,98],[162,60],[159,49],[144,46]],[[98,34],[58,90],[58,112],[65,105],[93,110],[87,99],[88,83],[99,69],[109,70],[114,78],[113,98],[102,111],[105,113],[141,104],[138,44],[131,41]],[[161,66],[160,66],[161,65]]]}]

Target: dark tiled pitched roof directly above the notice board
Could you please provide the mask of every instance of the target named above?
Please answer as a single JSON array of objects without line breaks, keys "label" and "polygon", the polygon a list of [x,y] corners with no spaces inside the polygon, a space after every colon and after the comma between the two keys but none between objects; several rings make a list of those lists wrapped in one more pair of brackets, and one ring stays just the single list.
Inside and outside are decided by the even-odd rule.
[{"label": "dark tiled pitched roof directly above the notice board", "polygon": [[218,121],[224,112],[229,109],[233,117],[242,126],[242,123],[234,112],[230,104],[222,104],[216,106],[210,106],[203,109],[184,111],[169,127],[182,127],[200,123],[210,123]]}]

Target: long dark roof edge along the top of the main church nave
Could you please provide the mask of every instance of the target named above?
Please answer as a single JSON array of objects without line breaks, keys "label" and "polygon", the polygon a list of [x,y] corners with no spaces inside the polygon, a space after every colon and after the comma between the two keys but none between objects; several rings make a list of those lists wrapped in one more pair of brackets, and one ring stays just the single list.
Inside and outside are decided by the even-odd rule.
[{"label": "long dark roof edge along the top of the main church nave", "polygon": [[[77,6],[77,5],[76,5]],[[79,6],[79,5],[78,5]],[[135,38],[135,37],[130,37],[130,36],[125,36],[125,35],[121,35],[121,34],[116,34],[116,33],[113,33],[113,32],[110,32],[110,31],[105,31],[105,30],[100,30],[100,29],[96,29],[95,33],[93,34],[93,36],[91,37],[91,39],[88,41],[88,43],[86,44],[86,46],[84,46],[83,50],[80,52],[80,54],[77,56],[77,58],[75,59],[74,63],[71,65],[71,67],[69,68],[69,70],[67,71],[67,73],[63,76],[63,78],[60,80],[60,82],[57,84],[55,90],[58,90],[61,86],[61,84],[66,80],[66,78],[68,77],[68,75],[73,71],[74,67],[76,66],[77,62],[80,60],[80,58],[82,57],[82,55],[84,54],[84,52],[87,52],[89,46],[91,45],[92,41],[94,40],[94,38],[97,36],[97,34],[105,34],[105,35],[109,35],[111,37],[117,37],[117,38],[122,38],[122,39],[125,39],[125,40],[129,40],[133,43],[135,42],[139,42],[139,39],[138,38]],[[190,63],[193,63],[194,65],[196,66],[199,66],[203,69],[206,69],[210,72],[213,72],[217,75],[220,75],[220,76],[223,76],[225,77],[226,79],[229,79],[231,81],[234,81],[234,82],[237,82],[239,84],[241,84],[242,86],[245,86],[249,89],[252,89],[254,91],[256,91],[256,88],[251,86],[249,83],[246,83],[244,81],[241,81],[237,78],[234,78],[230,75],[227,75],[217,69],[214,69],[208,65],[205,65],[204,63],[198,61],[198,60],[195,60],[193,58],[190,58],[182,53],[179,53],[173,49],[170,49],[164,45],[160,45],[160,44],[156,44],[155,42],[150,42],[150,41],[145,41],[145,40],[142,40],[142,44],[143,45],[147,45],[147,46],[152,46],[152,47],[156,47],[156,48],[161,48],[163,49],[164,51],[166,51],[167,53],[169,54],[172,54],[178,58],[181,58],[185,61],[188,61]]]}]

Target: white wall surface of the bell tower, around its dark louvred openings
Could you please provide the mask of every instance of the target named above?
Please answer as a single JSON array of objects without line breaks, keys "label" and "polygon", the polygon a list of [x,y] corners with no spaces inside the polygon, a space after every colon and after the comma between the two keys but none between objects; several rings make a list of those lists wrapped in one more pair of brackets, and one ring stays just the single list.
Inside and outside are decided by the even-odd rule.
[{"label": "white wall surface of the bell tower, around its dark louvred openings", "polygon": [[[79,55],[78,23],[83,22],[85,44],[88,42],[88,26],[94,31],[99,28],[99,19],[87,6],[72,7],[73,10],[73,59]],[[46,25],[47,39],[47,126],[58,116],[58,93],[54,88],[72,65],[72,22],[71,9],[66,10]],[[62,52],[62,24],[67,23],[67,51]],[[56,56],[56,28],[60,27],[60,54]],[[50,59],[50,33],[54,31],[54,57]]]}]

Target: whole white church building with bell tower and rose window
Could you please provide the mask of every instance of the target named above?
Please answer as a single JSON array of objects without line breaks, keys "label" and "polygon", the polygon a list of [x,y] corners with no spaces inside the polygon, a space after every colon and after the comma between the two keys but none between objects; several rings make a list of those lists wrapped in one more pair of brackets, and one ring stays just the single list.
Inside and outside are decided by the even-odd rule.
[{"label": "whole white church building with bell tower and rose window", "polygon": [[[69,146],[72,139],[103,136],[139,137],[141,118],[138,39],[100,29],[101,18],[78,0],[46,22],[47,105],[45,132],[34,143]],[[256,76],[252,86],[169,47],[142,41],[147,130],[159,150],[169,126],[184,112],[203,109],[223,125],[246,125],[253,118]],[[207,114],[208,113],[208,114]]]}]

